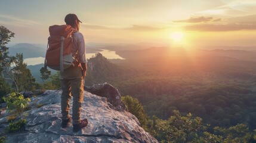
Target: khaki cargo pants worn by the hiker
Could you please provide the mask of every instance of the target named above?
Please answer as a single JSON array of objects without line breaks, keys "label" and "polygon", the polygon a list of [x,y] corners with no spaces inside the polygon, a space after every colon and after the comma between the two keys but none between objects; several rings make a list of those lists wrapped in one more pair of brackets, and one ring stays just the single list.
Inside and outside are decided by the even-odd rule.
[{"label": "khaki cargo pants worn by the hiker", "polygon": [[69,67],[60,72],[61,83],[61,114],[62,119],[69,118],[69,101],[73,96],[72,120],[73,125],[81,121],[82,102],[84,101],[84,79],[81,67]]}]

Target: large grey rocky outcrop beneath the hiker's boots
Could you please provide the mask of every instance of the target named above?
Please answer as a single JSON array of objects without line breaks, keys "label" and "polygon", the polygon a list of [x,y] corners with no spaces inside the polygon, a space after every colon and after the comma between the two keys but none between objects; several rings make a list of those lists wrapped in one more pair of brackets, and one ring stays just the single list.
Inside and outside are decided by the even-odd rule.
[{"label": "large grey rocky outcrop beneath the hiker's boots", "polygon": [[[106,83],[104,84],[106,86]],[[95,87],[98,86],[91,87],[91,89],[94,89],[95,94],[108,92],[104,88],[104,91],[97,91]],[[7,136],[7,141],[47,143],[158,142],[139,126],[138,119],[126,111],[123,108],[124,105],[112,105],[109,101],[113,103],[113,100],[87,91],[84,92],[81,116],[82,119],[88,119],[88,126],[77,133],[72,131],[72,125],[67,128],[61,128],[60,95],[61,91],[46,91],[41,96],[31,98],[30,105],[32,109],[23,113],[28,115],[26,117],[26,130],[10,133]],[[70,107],[72,108],[72,104],[70,104]],[[70,114],[72,114],[72,110],[70,110]],[[0,117],[1,132],[8,126],[8,115],[8,113],[2,113]]]}]

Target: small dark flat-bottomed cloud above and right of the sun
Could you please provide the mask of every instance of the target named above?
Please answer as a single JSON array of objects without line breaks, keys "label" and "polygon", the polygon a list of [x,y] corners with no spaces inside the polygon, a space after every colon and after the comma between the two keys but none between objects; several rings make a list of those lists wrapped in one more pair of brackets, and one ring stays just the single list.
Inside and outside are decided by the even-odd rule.
[{"label": "small dark flat-bottomed cloud above and right of the sun", "polygon": [[213,17],[190,17],[187,20],[177,20],[175,23],[206,23],[206,22],[221,21],[221,18],[214,19]]}]

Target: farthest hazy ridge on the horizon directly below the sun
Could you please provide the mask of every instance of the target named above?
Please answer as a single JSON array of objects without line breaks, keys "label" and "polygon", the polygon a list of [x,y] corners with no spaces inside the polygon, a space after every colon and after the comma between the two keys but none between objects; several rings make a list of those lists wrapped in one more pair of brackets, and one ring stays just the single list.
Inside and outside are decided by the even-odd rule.
[{"label": "farthest hazy ridge on the horizon directly below the sun", "polygon": [[140,50],[117,51],[116,54],[128,60],[149,60],[152,58],[173,57],[226,57],[243,61],[256,61],[256,51],[234,50],[234,49],[185,49],[185,48],[166,48],[152,47]]}]

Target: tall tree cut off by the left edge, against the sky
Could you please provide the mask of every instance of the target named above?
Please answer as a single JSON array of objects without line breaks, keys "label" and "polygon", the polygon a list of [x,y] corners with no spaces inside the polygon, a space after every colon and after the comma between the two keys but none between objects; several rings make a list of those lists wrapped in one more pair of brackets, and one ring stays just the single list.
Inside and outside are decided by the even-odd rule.
[{"label": "tall tree cut off by the left edge, against the sky", "polygon": [[14,33],[4,26],[0,26],[0,77],[4,67],[10,66],[11,59],[8,56],[8,47],[6,46],[10,39],[14,37]]}]

